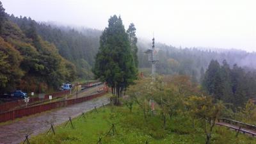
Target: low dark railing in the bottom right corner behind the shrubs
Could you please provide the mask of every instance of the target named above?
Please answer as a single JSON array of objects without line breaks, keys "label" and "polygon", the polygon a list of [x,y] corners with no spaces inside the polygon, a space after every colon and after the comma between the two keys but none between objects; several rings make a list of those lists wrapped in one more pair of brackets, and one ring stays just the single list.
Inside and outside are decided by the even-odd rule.
[{"label": "low dark railing in the bottom right corner behind the shrubs", "polygon": [[[236,125],[236,127],[235,126],[228,126],[228,127],[231,128],[231,129],[234,129],[237,132],[240,131],[240,132],[243,132],[243,133],[252,134],[252,136],[256,136],[256,125],[246,124],[244,122],[239,122],[239,121],[236,121],[236,120],[229,120],[227,118],[220,118],[220,119],[218,119],[218,122],[224,122],[224,123],[227,123],[227,124],[230,124],[230,125]],[[218,125],[221,125],[221,124],[218,123]],[[227,125],[223,125],[223,126],[227,126]],[[241,128],[245,128],[245,129],[241,129]],[[255,132],[247,131],[246,129],[252,130],[252,131],[255,131]]]}]

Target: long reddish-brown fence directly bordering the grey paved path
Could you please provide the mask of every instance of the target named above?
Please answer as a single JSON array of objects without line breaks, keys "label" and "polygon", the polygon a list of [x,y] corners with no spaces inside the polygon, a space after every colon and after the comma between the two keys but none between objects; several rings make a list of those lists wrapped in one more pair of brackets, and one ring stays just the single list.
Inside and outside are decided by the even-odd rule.
[{"label": "long reddish-brown fence directly bordering the grey paved path", "polygon": [[65,106],[70,106],[72,104],[77,104],[79,102],[85,102],[87,100],[95,99],[104,95],[106,92],[97,93],[95,95],[89,95],[87,97],[80,97],[77,99],[61,100],[58,102],[51,102],[49,104],[41,104],[38,106],[31,106],[28,108],[15,109],[13,111],[8,111],[0,114],[0,122],[7,122],[8,120],[14,120],[15,118],[21,118],[23,116],[34,115],[36,113],[41,113],[43,111],[49,111],[51,109],[62,108]]}]

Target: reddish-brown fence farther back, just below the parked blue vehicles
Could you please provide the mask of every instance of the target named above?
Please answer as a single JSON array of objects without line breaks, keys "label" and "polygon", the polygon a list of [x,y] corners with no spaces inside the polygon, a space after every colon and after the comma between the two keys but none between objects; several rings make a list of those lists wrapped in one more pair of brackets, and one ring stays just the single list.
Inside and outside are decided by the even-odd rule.
[{"label": "reddish-brown fence farther back, just below the parked blue vehicles", "polygon": [[[49,95],[52,95],[52,99],[55,99],[58,97],[62,97],[63,95],[67,95],[68,93],[70,93],[70,90],[55,92],[55,93],[51,93]],[[39,97],[32,97],[29,99],[29,104],[31,104],[33,102],[37,102],[39,100],[48,100],[49,95],[44,95],[43,99],[40,99]],[[24,106],[25,104],[26,104],[26,102],[24,102],[23,99],[15,100],[13,102],[5,102],[4,104],[0,104],[0,113],[3,113],[4,111],[9,111],[9,110],[17,108],[19,106]]]}]

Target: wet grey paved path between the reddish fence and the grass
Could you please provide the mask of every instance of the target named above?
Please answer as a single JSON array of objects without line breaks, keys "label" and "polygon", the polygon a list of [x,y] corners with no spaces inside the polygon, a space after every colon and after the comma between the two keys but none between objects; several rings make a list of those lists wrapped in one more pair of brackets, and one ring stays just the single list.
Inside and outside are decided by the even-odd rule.
[{"label": "wet grey paved path between the reddish fence and the grass", "polygon": [[31,116],[11,124],[0,125],[0,144],[20,143],[24,140],[26,133],[40,134],[51,127],[51,122],[54,122],[54,125],[62,124],[68,120],[69,116],[74,118],[81,115],[82,112],[90,111],[95,106],[102,106],[102,103],[108,104],[109,99],[107,97],[99,97],[95,100]]}]

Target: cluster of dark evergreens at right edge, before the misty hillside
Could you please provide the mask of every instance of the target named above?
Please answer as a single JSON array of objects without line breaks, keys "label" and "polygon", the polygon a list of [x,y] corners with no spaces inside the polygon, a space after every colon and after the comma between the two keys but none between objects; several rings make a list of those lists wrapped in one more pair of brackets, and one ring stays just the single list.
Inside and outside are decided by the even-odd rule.
[{"label": "cluster of dark evergreens at right edge, before the misty hillside", "polygon": [[230,104],[230,108],[243,107],[249,99],[256,99],[256,72],[246,72],[236,64],[230,68],[226,60],[222,65],[212,60],[202,86],[216,100]]}]

